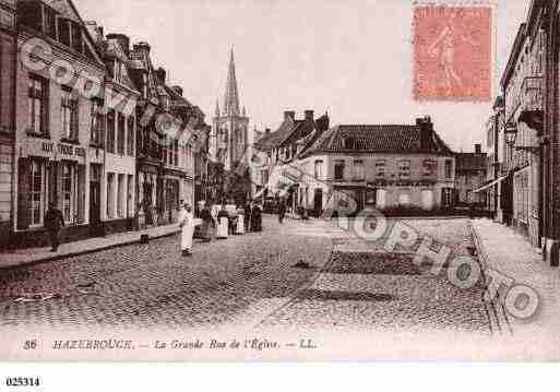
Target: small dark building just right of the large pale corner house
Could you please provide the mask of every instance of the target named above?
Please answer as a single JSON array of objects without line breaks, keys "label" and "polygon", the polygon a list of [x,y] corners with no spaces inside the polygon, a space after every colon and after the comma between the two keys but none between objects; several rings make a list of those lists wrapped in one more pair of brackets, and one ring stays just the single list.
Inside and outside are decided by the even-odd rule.
[{"label": "small dark building just right of the large pale corner house", "polygon": [[458,205],[486,205],[486,194],[475,193],[487,180],[487,154],[481,145],[474,153],[455,154],[455,203]]}]

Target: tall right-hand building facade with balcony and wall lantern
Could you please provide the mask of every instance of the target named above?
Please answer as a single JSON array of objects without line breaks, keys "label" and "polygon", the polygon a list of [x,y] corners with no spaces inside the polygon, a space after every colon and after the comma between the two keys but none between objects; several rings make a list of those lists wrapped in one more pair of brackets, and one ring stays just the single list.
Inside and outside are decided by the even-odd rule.
[{"label": "tall right-hand building facade with balcony and wall lantern", "polygon": [[[505,166],[510,175],[512,211],[505,221],[541,246],[543,233],[543,74],[546,33],[543,2],[533,1],[527,22],[520,26],[501,80],[504,94]],[[538,115],[540,114],[540,115]],[[535,116],[540,116],[536,120]]]}]

